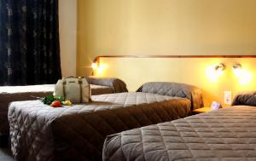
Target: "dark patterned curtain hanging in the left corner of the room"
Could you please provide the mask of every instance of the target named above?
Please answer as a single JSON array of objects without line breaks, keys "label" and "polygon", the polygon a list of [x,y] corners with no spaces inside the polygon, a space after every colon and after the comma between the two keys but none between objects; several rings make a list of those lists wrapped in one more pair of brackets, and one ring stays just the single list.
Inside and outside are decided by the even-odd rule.
[{"label": "dark patterned curtain hanging in the left corner of the room", "polygon": [[58,0],[0,0],[0,85],[61,78]]}]

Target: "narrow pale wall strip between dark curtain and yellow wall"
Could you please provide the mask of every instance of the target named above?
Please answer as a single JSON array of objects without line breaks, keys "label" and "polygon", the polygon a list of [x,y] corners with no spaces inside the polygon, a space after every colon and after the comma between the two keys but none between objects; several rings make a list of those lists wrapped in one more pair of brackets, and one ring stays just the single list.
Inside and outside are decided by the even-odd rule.
[{"label": "narrow pale wall strip between dark curtain and yellow wall", "polygon": [[59,1],[59,26],[61,48],[61,72],[63,77],[77,73],[77,22],[78,1]]}]

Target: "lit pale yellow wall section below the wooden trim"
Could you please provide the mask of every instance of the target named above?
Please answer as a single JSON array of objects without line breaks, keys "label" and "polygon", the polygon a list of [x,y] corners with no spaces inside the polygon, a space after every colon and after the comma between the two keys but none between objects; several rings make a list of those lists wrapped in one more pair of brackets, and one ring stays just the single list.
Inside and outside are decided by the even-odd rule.
[{"label": "lit pale yellow wall section below the wooden trim", "polygon": [[[256,89],[256,58],[102,58],[100,62],[96,76],[121,78],[130,91],[152,81],[193,84],[203,90],[206,106],[212,101],[224,105],[226,90],[234,97],[238,92]],[[226,66],[219,75],[211,70],[218,63]],[[235,63],[244,70],[239,78],[232,69]]]}]

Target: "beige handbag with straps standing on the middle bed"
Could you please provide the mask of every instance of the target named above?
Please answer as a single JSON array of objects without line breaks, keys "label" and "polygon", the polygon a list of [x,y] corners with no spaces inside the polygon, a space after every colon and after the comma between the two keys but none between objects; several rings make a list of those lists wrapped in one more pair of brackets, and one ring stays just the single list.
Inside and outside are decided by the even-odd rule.
[{"label": "beige handbag with straps standing on the middle bed", "polygon": [[54,96],[62,96],[73,103],[90,102],[90,84],[85,78],[62,78],[55,84]]}]

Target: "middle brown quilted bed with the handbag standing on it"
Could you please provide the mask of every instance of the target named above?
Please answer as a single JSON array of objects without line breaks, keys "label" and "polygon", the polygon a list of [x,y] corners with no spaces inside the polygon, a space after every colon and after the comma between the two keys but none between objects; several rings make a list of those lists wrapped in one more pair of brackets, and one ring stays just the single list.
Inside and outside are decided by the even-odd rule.
[{"label": "middle brown quilted bed with the handbag standing on it", "polygon": [[184,118],[191,108],[203,106],[201,90],[191,85],[146,83],[140,91],[93,95],[89,104],[62,108],[40,101],[11,103],[10,142],[15,158],[102,160],[107,135]]}]

